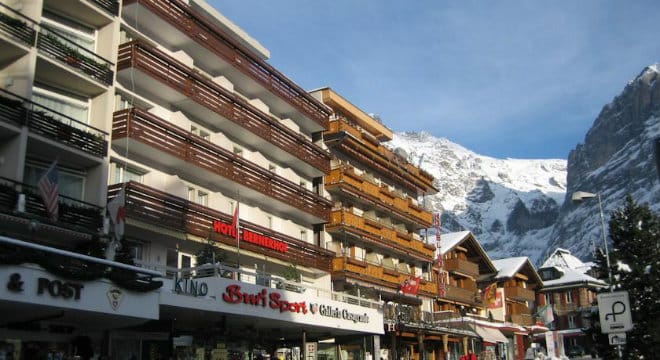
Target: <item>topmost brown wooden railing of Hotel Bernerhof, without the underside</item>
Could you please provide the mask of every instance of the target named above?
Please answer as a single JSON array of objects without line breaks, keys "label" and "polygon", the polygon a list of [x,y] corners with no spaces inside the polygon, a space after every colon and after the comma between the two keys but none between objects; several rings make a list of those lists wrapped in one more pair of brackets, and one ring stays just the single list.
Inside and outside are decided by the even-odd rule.
[{"label": "topmost brown wooden railing of Hotel Bernerhof, without the underside", "polygon": [[163,20],[187,34],[192,40],[215,53],[261,86],[278,95],[295,109],[328,127],[330,111],[293,81],[252,54],[231,35],[206,20],[181,1],[125,0],[124,7],[138,3],[150,9]]}]

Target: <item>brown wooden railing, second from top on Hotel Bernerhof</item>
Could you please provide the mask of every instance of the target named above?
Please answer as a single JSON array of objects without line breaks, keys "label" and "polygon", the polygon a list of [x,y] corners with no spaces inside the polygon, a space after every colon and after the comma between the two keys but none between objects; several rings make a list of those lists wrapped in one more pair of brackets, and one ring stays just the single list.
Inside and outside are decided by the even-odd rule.
[{"label": "brown wooden railing, second from top on Hotel Bernerhof", "polygon": [[330,154],[327,151],[164,53],[137,41],[123,44],[119,48],[118,69],[130,67],[144,71],[323,173],[330,171]]}]

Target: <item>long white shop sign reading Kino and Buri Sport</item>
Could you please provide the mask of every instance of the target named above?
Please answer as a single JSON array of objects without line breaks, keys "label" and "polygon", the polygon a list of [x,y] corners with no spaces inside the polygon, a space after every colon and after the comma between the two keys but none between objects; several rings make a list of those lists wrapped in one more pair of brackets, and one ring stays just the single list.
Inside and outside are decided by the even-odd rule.
[{"label": "long white shop sign reading Kino and Buri Sport", "polygon": [[174,279],[161,304],[382,334],[382,310],[221,277]]}]

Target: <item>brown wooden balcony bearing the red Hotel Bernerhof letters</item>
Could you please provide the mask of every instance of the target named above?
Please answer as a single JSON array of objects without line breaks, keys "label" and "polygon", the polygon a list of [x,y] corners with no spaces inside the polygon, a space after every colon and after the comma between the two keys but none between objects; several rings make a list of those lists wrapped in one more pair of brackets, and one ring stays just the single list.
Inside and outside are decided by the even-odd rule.
[{"label": "brown wooden balcony bearing the red Hotel Bernerhof letters", "polygon": [[[121,186],[122,184],[117,184],[109,188],[108,202],[116,195]],[[154,225],[156,228],[163,227],[205,239],[212,233],[214,220],[231,224],[231,214],[213,210],[143,184],[129,182],[125,186],[126,218],[129,221],[137,220]],[[287,263],[313,267],[328,272],[331,270],[331,262],[334,258],[334,252],[332,251],[242,219],[241,229],[265,235],[284,242],[288,246],[287,251],[283,253],[269,250],[249,241],[242,241],[241,249],[263,254]],[[213,233],[213,239],[230,246],[236,246],[236,239],[233,236]]]}]

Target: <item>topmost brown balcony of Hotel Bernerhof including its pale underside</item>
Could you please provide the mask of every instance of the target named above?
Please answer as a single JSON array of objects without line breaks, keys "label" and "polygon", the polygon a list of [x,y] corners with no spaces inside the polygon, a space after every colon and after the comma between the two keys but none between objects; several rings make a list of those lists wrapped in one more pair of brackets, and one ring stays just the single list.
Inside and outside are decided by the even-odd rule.
[{"label": "topmost brown balcony of Hotel Bernerhof including its pale underside", "polygon": [[[134,7],[140,7],[139,18]],[[202,68],[224,74],[245,92],[274,94],[278,101],[269,105],[276,107],[277,113],[298,112],[327,128],[330,111],[323,104],[183,1],[125,0],[122,18],[129,23],[139,21],[141,29],[153,24],[154,28],[146,30],[157,41],[199,55],[195,62]]]}]

